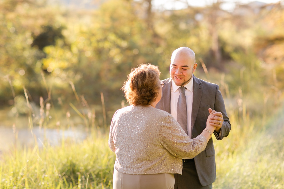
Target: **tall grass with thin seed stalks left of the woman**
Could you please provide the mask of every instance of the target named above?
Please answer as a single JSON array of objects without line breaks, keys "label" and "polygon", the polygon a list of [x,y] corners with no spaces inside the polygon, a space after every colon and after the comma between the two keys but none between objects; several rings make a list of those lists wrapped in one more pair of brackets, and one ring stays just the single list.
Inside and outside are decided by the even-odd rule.
[{"label": "tall grass with thin seed stalks left of the woman", "polygon": [[[70,107],[85,123],[88,137],[83,141],[64,137],[64,129],[66,126],[72,127],[70,123],[73,119],[67,111],[66,120],[60,122],[57,116],[56,126],[53,126],[63,130],[60,144],[51,146],[49,139],[46,138],[38,144],[36,136],[33,135],[33,109],[24,88],[29,108],[29,128],[34,136],[34,145],[20,148],[15,143],[8,152],[0,154],[0,188],[112,188],[115,154],[108,147],[107,128],[100,129],[95,126],[95,110],[88,106],[83,96],[80,100],[72,83],[71,86],[79,109],[82,110],[84,107],[83,110],[87,111],[87,114],[79,111],[71,103]],[[43,101],[43,98],[40,98],[39,129],[46,129],[50,125],[51,109],[55,112],[48,88],[47,92],[48,99]],[[62,109],[62,112],[65,110]],[[54,114],[56,116],[56,113]],[[14,140],[17,141],[16,126],[13,129],[15,130]]]}]

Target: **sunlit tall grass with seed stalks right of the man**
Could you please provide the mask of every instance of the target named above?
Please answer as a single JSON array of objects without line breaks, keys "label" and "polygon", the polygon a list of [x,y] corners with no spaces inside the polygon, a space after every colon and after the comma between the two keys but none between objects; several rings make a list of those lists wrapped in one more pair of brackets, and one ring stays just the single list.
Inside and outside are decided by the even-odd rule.
[{"label": "sunlit tall grass with seed stalks right of the man", "polygon": [[[202,67],[210,80],[204,63]],[[269,90],[252,90],[245,97],[240,86],[233,105],[234,97],[224,78],[223,74],[220,89],[229,102],[226,107],[232,129],[222,141],[213,137],[217,175],[213,188],[284,188],[284,101],[280,90],[270,94]]]}]

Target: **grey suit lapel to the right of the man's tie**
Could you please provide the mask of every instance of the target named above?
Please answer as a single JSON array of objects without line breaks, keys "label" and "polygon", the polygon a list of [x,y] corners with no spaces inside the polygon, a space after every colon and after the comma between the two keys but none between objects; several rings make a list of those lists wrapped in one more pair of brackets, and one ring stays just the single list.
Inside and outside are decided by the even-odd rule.
[{"label": "grey suit lapel to the right of the man's tie", "polygon": [[201,81],[197,77],[194,76],[193,78],[193,102],[192,102],[192,111],[191,111],[191,132],[193,130],[193,126],[195,124],[199,105],[201,102],[203,87],[200,84],[201,84]]}]

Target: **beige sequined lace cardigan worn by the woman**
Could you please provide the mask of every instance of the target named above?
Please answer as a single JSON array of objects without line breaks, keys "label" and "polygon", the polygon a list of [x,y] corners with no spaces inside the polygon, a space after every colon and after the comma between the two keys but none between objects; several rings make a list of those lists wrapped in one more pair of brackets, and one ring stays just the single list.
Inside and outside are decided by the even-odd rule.
[{"label": "beige sequined lace cardigan worn by the woman", "polygon": [[108,146],[114,168],[131,175],[182,173],[182,159],[206,147],[206,138],[190,139],[168,112],[145,106],[119,109],[112,117]]}]

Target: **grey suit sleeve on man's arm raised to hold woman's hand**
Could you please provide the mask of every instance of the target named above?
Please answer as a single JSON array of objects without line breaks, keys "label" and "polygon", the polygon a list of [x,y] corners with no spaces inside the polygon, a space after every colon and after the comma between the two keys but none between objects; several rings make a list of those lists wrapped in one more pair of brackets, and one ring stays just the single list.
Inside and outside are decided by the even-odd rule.
[{"label": "grey suit sleeve on man's arm raised to hold woman's hand", "polygon": [[226,109],[225,109],[225,103],[224,103],[224,99],[222,97],[222,94],[219,90],[219,86],[217,85],[216,87],[216,97],[215,97],[215,104],[214,104],[214,110],[217,112],[221,112],[223,114],[223,125],[221,127],[221,131],[220,133],[216,133],[216,131],[214,131],[214,135],[216,137],[217,140],[222,140],[224,137],[227,137],[229,135],[229,132],[231,130],[231,124],[230,124],[230,120],[228,118]]}]

